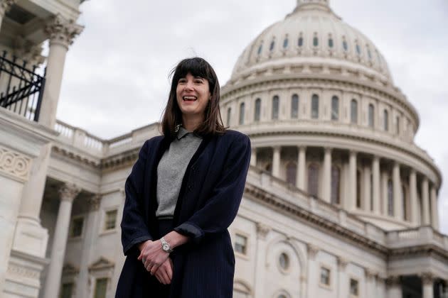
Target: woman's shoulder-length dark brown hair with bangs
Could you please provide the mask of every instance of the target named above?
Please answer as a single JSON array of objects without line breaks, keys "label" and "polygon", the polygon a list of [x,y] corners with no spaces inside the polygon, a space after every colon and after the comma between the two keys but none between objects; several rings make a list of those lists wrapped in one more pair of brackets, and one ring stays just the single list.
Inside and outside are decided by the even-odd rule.
[{"label": "woman's shoulder-length dark brown hair with bangs", "polygon": [[176,126],[182,124],[182,111],[176,100],[176,88],[179,79],[186,77],[190,73],[193,77],[207,79],[210,89],[210,100],[206,106],[204,121],[194,133],[199,136],[216,135],[225,132],[223,119],[219,109],[219,82],[215,71],[206,60],[200,57],[187,58],[178,63],[170,72],[171,89],[169,91],[168,102],[164,110],[161,121],[161,132],[171,140],[176,137]]}]

